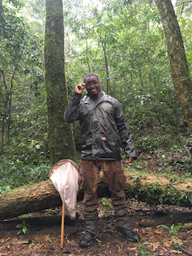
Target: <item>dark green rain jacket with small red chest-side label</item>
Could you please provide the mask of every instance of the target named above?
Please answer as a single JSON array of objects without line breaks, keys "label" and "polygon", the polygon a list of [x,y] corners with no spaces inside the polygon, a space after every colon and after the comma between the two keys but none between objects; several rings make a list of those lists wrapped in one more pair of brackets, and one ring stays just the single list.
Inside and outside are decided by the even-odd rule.
[{"label": "dark green rain jacket with small red chest-side label", "polygon": [[130,128],[118,100],[100,92],[98,99],[72,92],[64,114],[65,122],[80,122],[81,158],[121,160],[120,139],[126,157],[136,158]]}]

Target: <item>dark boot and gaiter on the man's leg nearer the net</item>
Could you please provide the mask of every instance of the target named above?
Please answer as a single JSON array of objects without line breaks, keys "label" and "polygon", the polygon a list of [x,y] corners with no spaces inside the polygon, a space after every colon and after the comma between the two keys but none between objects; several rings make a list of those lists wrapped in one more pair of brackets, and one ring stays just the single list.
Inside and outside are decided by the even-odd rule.
[{"label": "dark boot and gaiter on the man's leg nearer the net", "polygon": [[97,237],[97,210],[87,212],[84,215],[85,235],[79,242],[80,247],[88,247],[92,241]]}]

